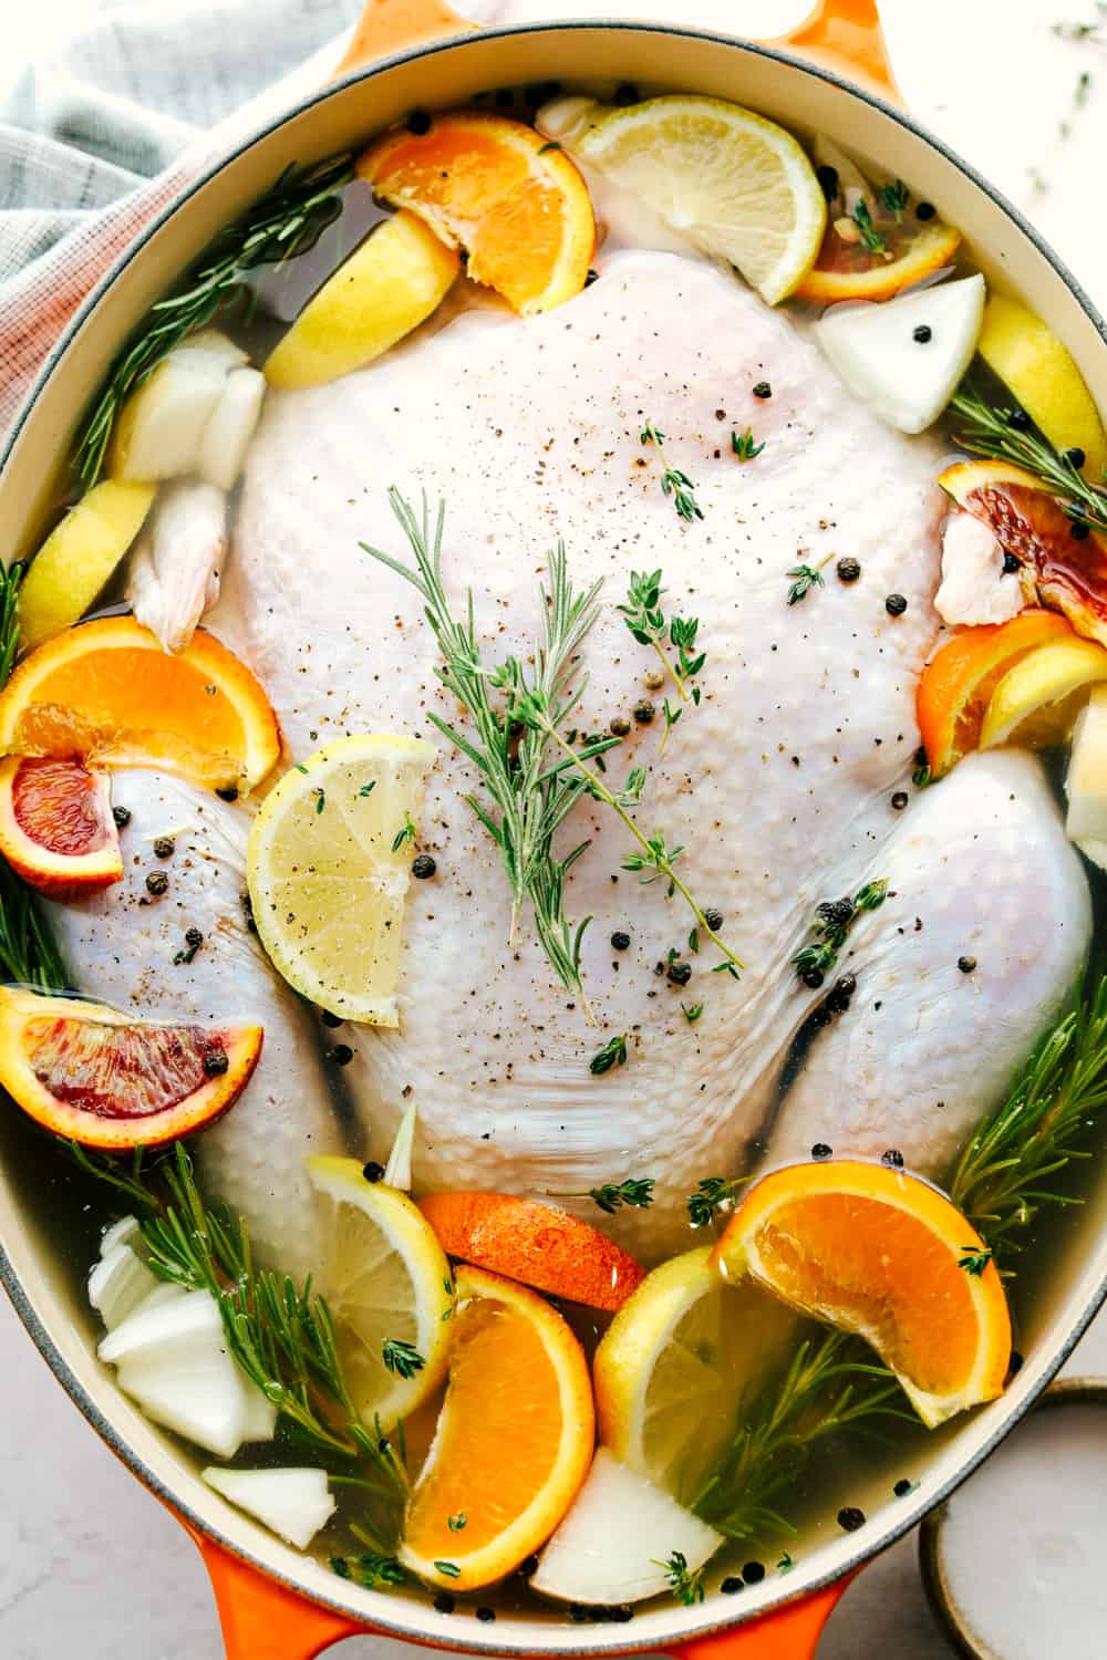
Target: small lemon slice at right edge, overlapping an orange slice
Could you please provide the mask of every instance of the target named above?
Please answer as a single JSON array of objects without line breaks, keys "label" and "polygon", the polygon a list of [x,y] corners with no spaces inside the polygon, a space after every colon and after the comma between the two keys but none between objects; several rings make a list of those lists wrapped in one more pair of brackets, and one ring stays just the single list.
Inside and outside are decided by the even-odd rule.
[{"label": "small lemon slice at right edge, overlapping an orange slice", "polygon": [[1095,681],[1107,681],[1107,651],[1095,641],[1057,641],[1027,652],[989,699],[981,749],[1064,744]]}]

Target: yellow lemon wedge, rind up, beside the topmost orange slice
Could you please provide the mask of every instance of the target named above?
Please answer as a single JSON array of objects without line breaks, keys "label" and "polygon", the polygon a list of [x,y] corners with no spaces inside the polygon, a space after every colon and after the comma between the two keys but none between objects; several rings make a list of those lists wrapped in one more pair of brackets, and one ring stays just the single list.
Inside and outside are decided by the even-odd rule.
[{"label": "yellow lemon wedge, rind up, beside the topmost orange slice", "polygon": [[446,294],[461,261],[413,212],[387,219],[329,277],[266,362],[271,387],[320,387],[380,357]]}]

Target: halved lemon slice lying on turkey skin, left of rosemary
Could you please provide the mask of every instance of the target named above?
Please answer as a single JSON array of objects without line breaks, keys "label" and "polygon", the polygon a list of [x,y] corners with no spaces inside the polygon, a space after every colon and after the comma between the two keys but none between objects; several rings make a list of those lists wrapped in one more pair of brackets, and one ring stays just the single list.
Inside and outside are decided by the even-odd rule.
[{"label": "halved lemon slice lying on turkey skin, left of rosemary", "polygon": [[397,979],[412,840],[435,749],[378,732],[339,739],[266,798],[246,862],[257,933],[310,1003],[398,1026]]}]

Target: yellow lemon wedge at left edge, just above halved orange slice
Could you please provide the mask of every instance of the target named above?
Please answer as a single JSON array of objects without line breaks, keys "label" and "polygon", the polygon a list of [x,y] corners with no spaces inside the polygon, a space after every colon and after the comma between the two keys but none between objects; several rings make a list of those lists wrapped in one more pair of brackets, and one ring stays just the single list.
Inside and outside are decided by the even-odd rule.
[{"label": "yellow lemon wedge at left edge, just above halved orange slice", "polygon": [[95,485],[35,554],[20,589],[20,642],[27,651],[85,616],[149,513],[154,485]]}]

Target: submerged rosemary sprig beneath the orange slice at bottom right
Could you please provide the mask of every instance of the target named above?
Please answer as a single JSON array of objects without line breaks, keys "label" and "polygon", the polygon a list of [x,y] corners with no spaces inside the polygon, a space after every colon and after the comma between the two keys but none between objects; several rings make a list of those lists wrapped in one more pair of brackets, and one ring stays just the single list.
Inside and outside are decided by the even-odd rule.
[{"label": "submerged rosemary sprig beneath the orange slice at bottom right", "polygon": [[891,1373],[868,1355],[843,1331],[800,1343],[783,1376],[740,1404],[735,1433],[692,1501],[695,1514],[729,1539],[795,1532],[775,1501],[817,1443],[873,1418],[918,1423]]}]

